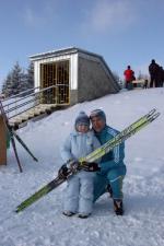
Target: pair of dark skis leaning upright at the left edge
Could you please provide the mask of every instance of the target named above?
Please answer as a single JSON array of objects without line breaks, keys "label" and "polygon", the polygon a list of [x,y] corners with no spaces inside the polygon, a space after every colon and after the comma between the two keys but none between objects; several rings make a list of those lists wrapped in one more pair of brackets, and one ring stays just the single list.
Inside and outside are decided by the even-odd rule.
[{"label": "pair of dark skis leaning upright at the left edge", "polygon": [[16,159],[16,162],[17,162],[17,165],[19,165],[20,173],[22,173],[23,169],[22,169],[22,165],[21,165],[21,162],[20,162],[20,159],[19,159],[19,154],[17,154],[17,150],[16,150],[16,144],[15,144],[14,138],[21,143],[21,145],[27,151],[27,153],[33,157],[34,161],[38,162],[38,160],[33,155],[33,153],[30,151],[27,145],[23,142],[23,140],[19,137],[19,134],[9,125],[9,119],[8,119],[8,116],[5,114],[5,110],[3,108],[3,105],[2,105],[1,101],[0,101],[0,112],[1,112],[1,116],[3,118],[3,122],[4,122],[4,126],[5,126],[7,132],[8,132],[9,137],[10,137],[11,144],[13,147],[13,151],[14,151],[14,154],[15,154],[15,159]]}]

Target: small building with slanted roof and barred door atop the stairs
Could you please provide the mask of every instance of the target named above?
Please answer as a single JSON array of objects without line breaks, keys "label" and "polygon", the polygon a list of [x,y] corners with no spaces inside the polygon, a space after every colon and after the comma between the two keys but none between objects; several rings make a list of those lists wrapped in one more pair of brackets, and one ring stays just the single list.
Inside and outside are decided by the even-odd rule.
[{"label": "small building with slanted roof and barred door atop the stairs", "polygon": [[104,58],[97,54],[70,47],[30,59],[34,62],[35,87],[56,85],[49,92],[49,103],[73,105],[120,90]]}]

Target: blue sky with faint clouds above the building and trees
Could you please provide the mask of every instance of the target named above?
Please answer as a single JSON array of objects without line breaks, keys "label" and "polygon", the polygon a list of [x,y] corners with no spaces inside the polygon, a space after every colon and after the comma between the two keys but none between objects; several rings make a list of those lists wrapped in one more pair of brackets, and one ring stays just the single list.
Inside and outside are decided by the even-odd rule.
[{"label": "blue sky with faint clouds above the building and trees", "polygon": [[164,66],[164,0],[0,0],[0,83],[19,61],[65,47],[102,55],[122,77]]}]

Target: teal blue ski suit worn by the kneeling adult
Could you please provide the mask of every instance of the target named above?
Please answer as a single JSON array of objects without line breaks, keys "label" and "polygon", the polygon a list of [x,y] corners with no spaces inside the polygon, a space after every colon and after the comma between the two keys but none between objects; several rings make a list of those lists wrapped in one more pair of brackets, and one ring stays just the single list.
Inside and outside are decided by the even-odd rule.
[{"label": "teal blue ski suit worn by the kneeling adult", "polygon": [[[95,132],[101,144],[104,144],[109,139],[114,138],[119,131],[108,126],[101,132]],[[125,157],[125,143],[114,148],[113,151],[104,155],[101,160],[101,172],[96,173],[94,179],[94,201],[98,199],[104,192],[106,187],[110,184],[114,199],[122,199],[122,179],[126,175]]]}]

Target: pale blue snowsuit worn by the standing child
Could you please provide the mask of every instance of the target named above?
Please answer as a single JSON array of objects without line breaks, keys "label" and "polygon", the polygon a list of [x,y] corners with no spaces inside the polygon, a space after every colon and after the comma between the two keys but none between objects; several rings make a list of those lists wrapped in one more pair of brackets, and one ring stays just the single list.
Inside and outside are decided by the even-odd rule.
[{"label": "pale blue snowsuit worn by the standing child", "polygon": [[[77,161],[99,145],[92,130],[86,133],[74,130],[61,147],[61,157],[63,162],[68,162],[69,160]],[[92,172],[81,171],[68,179],[63,204],[65,211],[83,214],[90,214],[92,212],[94,176],[95,174]]]}]

